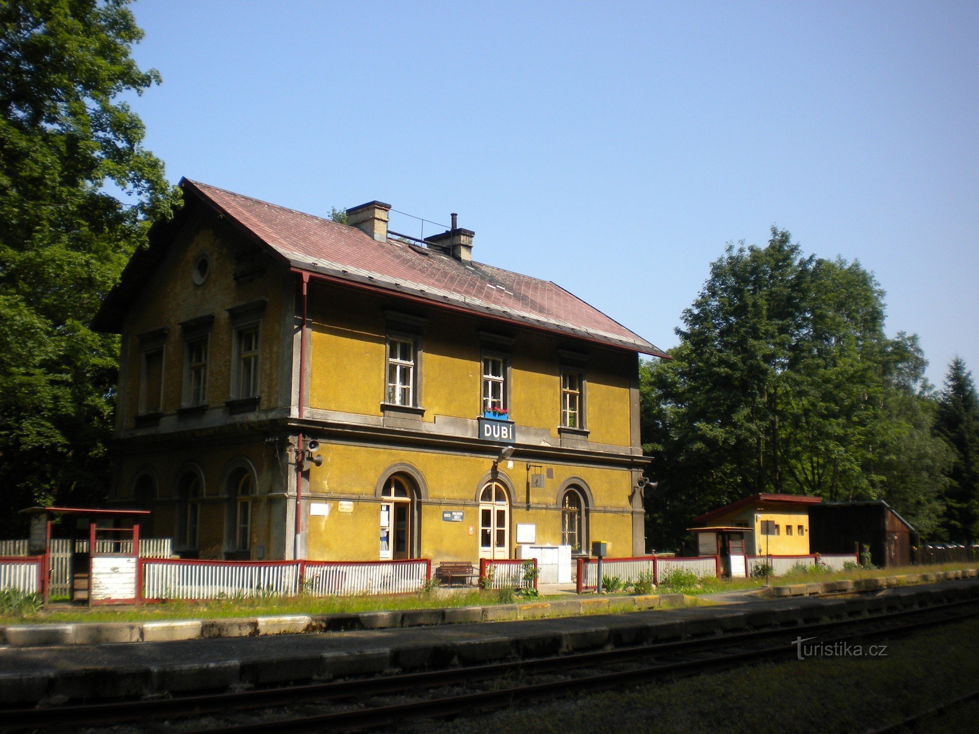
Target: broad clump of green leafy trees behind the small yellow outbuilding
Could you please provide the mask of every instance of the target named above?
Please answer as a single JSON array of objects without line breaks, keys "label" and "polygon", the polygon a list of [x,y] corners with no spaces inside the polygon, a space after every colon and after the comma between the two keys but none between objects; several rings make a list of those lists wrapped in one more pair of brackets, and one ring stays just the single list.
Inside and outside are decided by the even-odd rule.
[{"label": "broad clump of green leafy trees behind the small yellow outbuilding", "polygon": [[641,371],[643,440],[658,486],[647,534],[676,545],[697,515],[756,492],[885,498],[927,532],[945,446],[917,339],[883,330],[858,262],[728,246],[677,329],[673,360]]}]

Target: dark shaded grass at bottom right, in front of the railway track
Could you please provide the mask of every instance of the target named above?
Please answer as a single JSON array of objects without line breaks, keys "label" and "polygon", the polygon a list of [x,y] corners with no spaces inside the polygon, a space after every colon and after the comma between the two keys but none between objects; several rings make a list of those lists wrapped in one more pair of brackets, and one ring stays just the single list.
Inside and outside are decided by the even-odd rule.
[{"label": "dark shaded grass at bottom right, in front of the railway track", "polygon": [[[889,646],[886,658],[751,665],[592,695],[576,692],[533,708],[428,721],[412,730],[860,732],[952,701],[976,687],[979,620],[883,642]],[[927,721],[918,731],[974,731],[979,705],[964,709]]]}]

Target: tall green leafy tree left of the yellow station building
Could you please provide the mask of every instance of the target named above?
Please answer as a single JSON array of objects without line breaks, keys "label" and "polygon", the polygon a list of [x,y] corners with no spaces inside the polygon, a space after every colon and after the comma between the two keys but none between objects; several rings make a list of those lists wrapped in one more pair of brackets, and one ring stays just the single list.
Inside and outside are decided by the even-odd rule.
[{"label": "tall green leafy tree left of the yellow station building", "polygon": [[[159,83],[125,0],[0,0],[0,523],[97,502],[117,339],[87,324],[178,201],[122,95]],[[115,196],[114,196],[115,192]],[[120,199],[128,200],[123,204]]]}]

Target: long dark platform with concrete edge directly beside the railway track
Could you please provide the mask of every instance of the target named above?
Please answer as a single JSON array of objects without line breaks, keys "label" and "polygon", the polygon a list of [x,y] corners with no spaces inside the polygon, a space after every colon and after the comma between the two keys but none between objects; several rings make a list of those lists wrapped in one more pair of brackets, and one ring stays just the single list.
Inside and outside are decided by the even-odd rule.
[{"label": "long dark platform with concrete edge directly beside the railway track", "polygon": [[852,599],[801,597],[558,619],[6,648],[0,649],[0,703],[23,706],[45,699],[139,697],[395,669],[475,665],[818,619],[849,619],[867,614],[871,607],[891,611],[959,598],[979,598],[979,580],[884,589]]}]

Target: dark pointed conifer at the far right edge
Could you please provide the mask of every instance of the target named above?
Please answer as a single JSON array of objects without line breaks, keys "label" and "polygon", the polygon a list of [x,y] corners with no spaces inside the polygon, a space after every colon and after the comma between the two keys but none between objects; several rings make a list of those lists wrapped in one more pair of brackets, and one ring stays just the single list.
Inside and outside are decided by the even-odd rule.
[{"label": "dark pointed conifer at the far right edge", "polygon": [[972,373],[959,357],[952,360],[938,403],[935,433],[952,449],[943,523],[950,540],[979,538],[979,398]]}]

